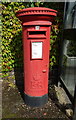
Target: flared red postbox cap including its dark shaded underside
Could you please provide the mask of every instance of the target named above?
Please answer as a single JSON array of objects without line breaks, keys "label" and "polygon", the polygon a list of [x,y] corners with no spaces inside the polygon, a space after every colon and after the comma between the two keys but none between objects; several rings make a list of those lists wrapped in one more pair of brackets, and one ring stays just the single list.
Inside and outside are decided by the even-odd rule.
[{"label": "flared red postbox cap including its dark shaded underside", "polygon": [[44,7],[31,7],[16,12],[16,17],[22,21],[22,24],[32,22],[31,25],[35,21],[53,22],[56,15],[56,10]]}]

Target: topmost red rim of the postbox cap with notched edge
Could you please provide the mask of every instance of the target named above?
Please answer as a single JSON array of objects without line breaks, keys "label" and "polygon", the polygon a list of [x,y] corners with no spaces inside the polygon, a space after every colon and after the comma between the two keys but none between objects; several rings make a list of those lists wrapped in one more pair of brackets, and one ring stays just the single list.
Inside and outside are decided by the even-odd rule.
[{"label": "topmost red rim of the postbox cap with notched edge", "polygon": [[31,7],[31,8],[25,8],[22,10],[19,10],[16,12],[16,16],[25,16],[25,15],[52,15],[56,16],[57,11],[50,9],[50,8],[44,8],[44,7]]}]

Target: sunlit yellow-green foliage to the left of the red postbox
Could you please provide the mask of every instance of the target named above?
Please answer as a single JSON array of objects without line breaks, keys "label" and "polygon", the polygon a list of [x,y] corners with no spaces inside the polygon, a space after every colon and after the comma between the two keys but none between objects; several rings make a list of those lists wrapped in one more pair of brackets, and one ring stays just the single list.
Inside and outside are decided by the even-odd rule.
[{"label": "sunlit yellow-green foliage to the left of the red postbox", "polygon": [[22,3],[2,3],[3,26],[1,48],[3,58],[3,71],[10,71],[15,66],[21,66],[20,61],[22,61],[22,27],[20,25],[20,21],[15,16],[15,13],[17,10],[23,8],[25,8],[25,6]]}]

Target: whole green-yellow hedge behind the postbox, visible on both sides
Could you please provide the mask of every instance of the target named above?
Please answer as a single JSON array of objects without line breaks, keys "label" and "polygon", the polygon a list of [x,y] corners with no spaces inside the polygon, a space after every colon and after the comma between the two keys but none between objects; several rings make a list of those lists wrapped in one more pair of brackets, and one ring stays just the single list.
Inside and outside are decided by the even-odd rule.
[{"label": "whole green-yellow hedge behind the postbox, visible on both sides", "polygon": [[[21,22],[15,16],[16,11],[27,7],[42,6],[61,11],[63,4],[57,3],[25,3],[4,2],[2,3],[2,71],[11,71],[14,67],[23,66],[22,27]],[[61,6],[61,7],[59,7]],[[58,32],[62,16],[57,17],[55,26],[52,26],[51,34],[51,58],[50,65],[57,64]],[[57,40],[58,39],[58,40]]]}]

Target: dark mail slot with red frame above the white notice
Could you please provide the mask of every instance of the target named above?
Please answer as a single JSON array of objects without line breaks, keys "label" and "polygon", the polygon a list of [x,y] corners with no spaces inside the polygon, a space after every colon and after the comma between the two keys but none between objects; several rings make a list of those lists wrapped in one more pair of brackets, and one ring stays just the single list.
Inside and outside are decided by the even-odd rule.
[{"label": "dark mail slot with red frame above the white notice", "polygon": [[29,38],[45,38],[46,31],[29,31],[28,37]]}]

